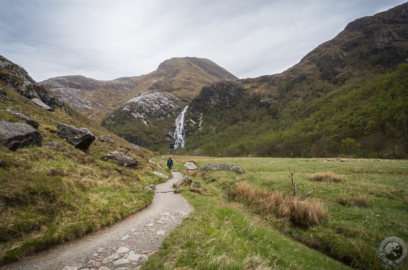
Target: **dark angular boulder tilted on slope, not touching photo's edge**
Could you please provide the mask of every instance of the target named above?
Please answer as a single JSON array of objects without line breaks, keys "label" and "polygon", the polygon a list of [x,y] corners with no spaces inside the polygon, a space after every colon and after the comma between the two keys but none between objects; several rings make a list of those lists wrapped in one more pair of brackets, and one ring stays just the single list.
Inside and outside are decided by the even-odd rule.
[{"label": "dark angular boulder tilted on slope, not touching photo's edge", "polygon": [[79,129],[64,123],[58,123],[57,128],[57,134],[59,136],[83,152],[85,152],[95,140],[93,133],[86,128]]}]

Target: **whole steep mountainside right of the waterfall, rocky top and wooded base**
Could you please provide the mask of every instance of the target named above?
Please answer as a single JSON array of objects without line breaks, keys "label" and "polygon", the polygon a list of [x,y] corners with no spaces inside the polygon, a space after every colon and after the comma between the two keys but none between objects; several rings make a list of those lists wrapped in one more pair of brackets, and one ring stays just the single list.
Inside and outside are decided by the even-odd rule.
[{"label": "whole steep mountainside right of the waterfall, rocky top and wooded base", "polygon": [[287,71],[238,80],[239,92],[225,82],[203,87],[189,105],[187,150],[406,157],[407,14],[405,3],[357,19]]}]

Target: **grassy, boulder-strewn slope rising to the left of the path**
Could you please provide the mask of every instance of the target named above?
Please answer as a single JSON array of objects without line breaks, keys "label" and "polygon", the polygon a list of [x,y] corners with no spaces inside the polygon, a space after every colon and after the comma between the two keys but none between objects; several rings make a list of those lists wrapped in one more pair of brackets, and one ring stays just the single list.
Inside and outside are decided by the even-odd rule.
[{"label": "grassy, boulder-strewn slope rising to the left of the path", "polygon": [[[20,130],[4,130],[13,123],[34,130],[40,140],[14,151],[0,143],[0,265],[139,211],[153,196],[143,187],[161,182],[162,178],[150,173],[162,170],[150,160],[154,153],[59,102],[25,70],[2,56],[0,120],[2,143]],[[26,122],[33,126],[23,125]],[[81,151],[58,132],[59,123],[86,128],[96,139]],[[28,140],[22,135],[14,138]],[[134,158],[136,169],[103,159],[113,151]]]}]

